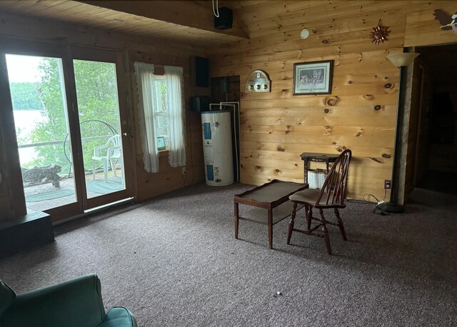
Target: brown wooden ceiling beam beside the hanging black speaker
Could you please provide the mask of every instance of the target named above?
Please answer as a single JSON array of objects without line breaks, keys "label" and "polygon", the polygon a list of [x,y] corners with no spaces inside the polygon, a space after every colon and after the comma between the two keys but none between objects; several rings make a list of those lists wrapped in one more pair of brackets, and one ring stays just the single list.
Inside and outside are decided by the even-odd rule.
[{"label": "brown wooden ceiling beam beside the hanging black speaker", "polygon": [[214,14],[211,1],[111,1],[77,0],[100,8],[133,14],[156,21],[188,26],[194,29],[249,39],[248,34],[233,19],[231,29],[214,28]]}]

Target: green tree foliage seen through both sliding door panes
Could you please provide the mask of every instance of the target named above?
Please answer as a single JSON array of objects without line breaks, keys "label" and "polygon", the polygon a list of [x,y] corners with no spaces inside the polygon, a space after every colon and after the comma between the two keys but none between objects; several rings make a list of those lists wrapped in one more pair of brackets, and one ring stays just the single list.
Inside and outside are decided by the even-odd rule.
[{"label": "green tree foliage seen through both sliding door panes", "polygon": [[[31,134],[34,143],[64,141],[66,144],[39,146],[35,166],[57,164],[69,171],[69,136],[66,122],[66,98],[61,89],[64,84],[59,73],[59,59],[44,58],[39,66],[44,74],[39,83],[39,100],[43,103],[42,115],[46,120],[37,124]],[[83,145],[84,167],[92,169],[94,146],[105,144],[109,136],[119,133],[116,66],[95,61],[74,61],[76,97]],[[71,111],[70,111],[71,113]],[[109,129],[109,126],[115,130]],[[94,136],[104,139],[86,140]]]}]

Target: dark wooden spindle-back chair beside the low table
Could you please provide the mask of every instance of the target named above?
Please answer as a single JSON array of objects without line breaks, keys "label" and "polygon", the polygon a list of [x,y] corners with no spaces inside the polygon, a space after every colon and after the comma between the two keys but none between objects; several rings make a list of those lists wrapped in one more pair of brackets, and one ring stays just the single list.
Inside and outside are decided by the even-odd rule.
[{"label": "dark wooden spindle-back chair beside the low table", "polygon": [[[326,242],[327,252],[331,254],[330,239],[328,238],[327,224],[338,226],[343,236],[343,240],[346,241],[346,232],[344,231],[343,221],[341,221],[340,213],[338,208],[345,208],[345,192],[346,183],[348,179],[348,168],[351,162],[351,150],[343,151],[338,159],[336,159],[331,170],[328,172],[326,180],[323,183],[321,189],[307,188],[303,191],[298,191],[289,196],[289,199],[293,202],[293,210],[291,213],[291,222],[288,224],[288,235],[287,243],[291,242],[291,236],[293,231],[298,231],[307,235],[323,237]],[[296,215],[297,204],[302,203],[305,206],[306,213],[306,226],[307,230],[293,228],[293,220]],[[313,217],[313,208],[319,210],[320,218]],[[333,212],[336,216],[336,223],[326,220],[323,216],[323,210],[333,208]],[[311,228],[311,221],[318,221],[316,226]],[[317,231],[319,227],[322,227],[322,231]]]}]

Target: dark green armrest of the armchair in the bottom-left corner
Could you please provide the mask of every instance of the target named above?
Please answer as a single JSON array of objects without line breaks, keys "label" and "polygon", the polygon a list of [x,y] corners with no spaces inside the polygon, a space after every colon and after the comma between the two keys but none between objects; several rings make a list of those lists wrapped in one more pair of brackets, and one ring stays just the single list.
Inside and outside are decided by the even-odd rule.
[{"label": "dark green armrest of the armchair in the bottom-left corner", "polygon": [[97,326],[105,316],[95,274],[19,294],[1,316],[0,326]]}]

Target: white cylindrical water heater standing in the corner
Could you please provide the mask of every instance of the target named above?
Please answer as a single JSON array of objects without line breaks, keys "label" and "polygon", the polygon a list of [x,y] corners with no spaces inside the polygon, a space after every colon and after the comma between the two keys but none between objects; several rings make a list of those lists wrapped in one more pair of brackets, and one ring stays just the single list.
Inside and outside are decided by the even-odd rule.
[{"label": "white cylindrical water heater standing in the corner", "polygon": [[206,184],[224,186],[233,183],[230,111],[204,111],[201,125]]}]

